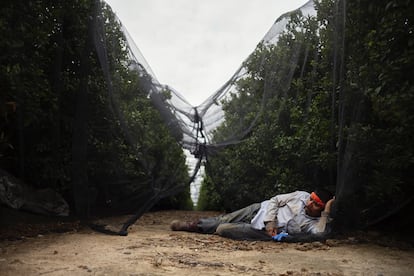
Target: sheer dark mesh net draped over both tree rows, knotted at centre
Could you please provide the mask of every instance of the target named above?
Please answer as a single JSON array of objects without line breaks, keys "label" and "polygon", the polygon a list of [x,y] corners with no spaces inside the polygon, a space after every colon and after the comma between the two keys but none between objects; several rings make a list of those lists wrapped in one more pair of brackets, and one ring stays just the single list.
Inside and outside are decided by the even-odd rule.
[{"label": "sheer dark mesh net draped over both tree rows, knotted at centre", "polygon": [[[74,18],[59,12],[75,9],[64,1],[48,14],[34,8],[44,21],[55,19],[44,37],[53,60],[40,60],[53,68],[40,95],[48,109],[36,117],[48,125],[31,141],[52,141],[43,149],[49,171],[42,164],[40,171],[73,195],[78,214],[135,212],[112,232],[126,234],[161,200],[188,191],[202,165],[198,205],[205,209],[327,188],[337,199],[335,226],[345,230],[412,207],[414,91],[404,74],[414,69],[411,1],[308,1],[280,16],[234,75],[195,107],[159,83],[105,2],[84,1]],[[72,45],[77,32],[83,40]],[[38,177],[40,150],[22,145],[36,126],[28,123],[33,103],[42,103],[16,91],[10,98],[24,108],[15,112],[10,142],[20,152],[10,170],[29,179]],[[197,159],[191,172],[182,149]]]}]

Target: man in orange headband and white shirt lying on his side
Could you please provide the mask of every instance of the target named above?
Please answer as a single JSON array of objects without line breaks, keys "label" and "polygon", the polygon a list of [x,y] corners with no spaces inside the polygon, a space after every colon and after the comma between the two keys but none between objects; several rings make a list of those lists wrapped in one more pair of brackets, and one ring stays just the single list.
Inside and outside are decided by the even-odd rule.
[{"label": "man in orange headband and white shirt lying on his side", "polygon": [[287,235],[321,236],[327,232],[335,198],[326,190],[296,191],[243,209],[197,221],[171,222],[171,230],[218,234],[237,240],[281,240]]}]

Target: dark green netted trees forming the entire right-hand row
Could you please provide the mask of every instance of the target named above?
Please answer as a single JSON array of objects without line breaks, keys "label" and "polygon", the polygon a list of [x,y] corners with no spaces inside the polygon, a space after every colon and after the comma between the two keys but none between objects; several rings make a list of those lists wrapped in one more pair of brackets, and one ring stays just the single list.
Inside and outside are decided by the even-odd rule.
[{"label": "dark green netted trees forming the entire right-hand row", "polygon": [[215,137],[256,124],[242,143],[209,157],[200,208],[234,210],[335,185],[359,210],[412,195],[412,1],[316,8],[316,18],[290,14],[278,44],[259,45],[246,61]]}]

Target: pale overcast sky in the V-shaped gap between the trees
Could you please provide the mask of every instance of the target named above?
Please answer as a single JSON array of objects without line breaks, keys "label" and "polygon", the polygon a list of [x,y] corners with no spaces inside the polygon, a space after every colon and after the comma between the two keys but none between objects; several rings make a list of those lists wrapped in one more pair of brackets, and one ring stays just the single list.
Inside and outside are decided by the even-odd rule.
[{"label": "pale overcast sky in the V-shaped gap between the trees", "polygon": [[218,90],[275,20],[307,0],[107,0],[156,78],[193,106]]}]

